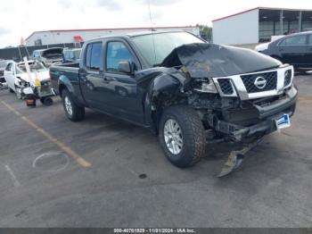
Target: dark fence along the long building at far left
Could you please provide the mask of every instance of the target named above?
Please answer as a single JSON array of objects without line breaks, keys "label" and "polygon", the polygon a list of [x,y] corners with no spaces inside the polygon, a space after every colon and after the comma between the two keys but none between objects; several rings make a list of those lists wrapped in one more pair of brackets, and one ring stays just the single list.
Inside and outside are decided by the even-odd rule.
[{"label": "dark fence along the long building at far left", "polygon": [[53,47],[66,47],[66,48],[77,48],[81,47],[82,44],[65,43],[65,44],[54,44],[48,46],[19,46],[0,49],[0,60],[14,60],[15,62],[21,62],[22,58],[27,56],[30,57],[32,52],[37,49],[46,49]]}]

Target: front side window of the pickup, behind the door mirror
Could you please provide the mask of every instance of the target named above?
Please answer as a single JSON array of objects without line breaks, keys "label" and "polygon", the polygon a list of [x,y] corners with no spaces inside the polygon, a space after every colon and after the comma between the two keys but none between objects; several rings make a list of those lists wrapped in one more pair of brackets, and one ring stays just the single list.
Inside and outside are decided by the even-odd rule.
[{"label": "front side window of the pickup, behind the door mirror", "polygon": [[109,42],[106,54],[106,70],[118,71],[119,62],[133,63],[132,54],[127,49],[124,43],[119,41]]}]

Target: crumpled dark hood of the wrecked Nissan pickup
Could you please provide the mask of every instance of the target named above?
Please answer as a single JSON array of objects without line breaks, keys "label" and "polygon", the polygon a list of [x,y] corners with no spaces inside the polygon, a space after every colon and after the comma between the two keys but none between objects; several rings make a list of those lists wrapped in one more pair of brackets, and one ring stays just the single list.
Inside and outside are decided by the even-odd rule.
[{"label": "crumpled dark hood of the wrecked Nissan pickup", "polygon": [[250,49],[198,43],[179,46],[160,64],[184,65],[192,78],[227,77],[279,67],[279,61]]}]

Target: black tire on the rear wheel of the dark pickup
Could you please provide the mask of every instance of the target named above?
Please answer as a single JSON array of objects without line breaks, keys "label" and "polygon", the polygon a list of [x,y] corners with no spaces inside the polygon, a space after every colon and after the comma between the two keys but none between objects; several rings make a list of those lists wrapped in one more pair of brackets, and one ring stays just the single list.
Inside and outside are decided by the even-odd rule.
[{"label": "black tire on the rear wheel of the dark pickup", "polygon": [[[66,104],[65,104],[66,101],[70,102],[71,113],[66,108]],[[70,96],[70,92],[67,89],[62,91],[62,104],[64,107],[64,111],[66,113],[66,116],[67,118],[69,118],[70,121],[82,121],[85,118],[85,107],[75,104],[72,97]]]}]

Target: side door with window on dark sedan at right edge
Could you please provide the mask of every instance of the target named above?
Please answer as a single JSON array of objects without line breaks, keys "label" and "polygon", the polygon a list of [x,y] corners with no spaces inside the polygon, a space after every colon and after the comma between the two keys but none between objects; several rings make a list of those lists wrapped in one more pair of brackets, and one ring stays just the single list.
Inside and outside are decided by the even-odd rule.
[{"label": "side door with window on dark sedan at right edge", "polygon": [[302,66],[308,63],[308,35],[284,38],[278,44],[278,51],[281,54],[283,63],[290,63],[295,66]]}]

